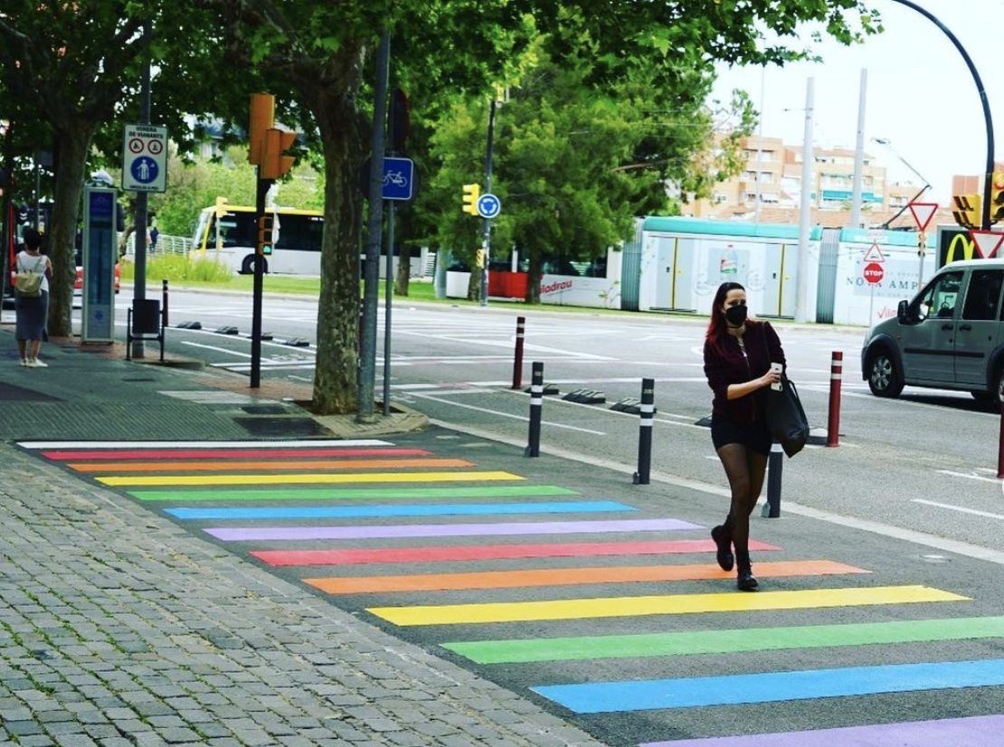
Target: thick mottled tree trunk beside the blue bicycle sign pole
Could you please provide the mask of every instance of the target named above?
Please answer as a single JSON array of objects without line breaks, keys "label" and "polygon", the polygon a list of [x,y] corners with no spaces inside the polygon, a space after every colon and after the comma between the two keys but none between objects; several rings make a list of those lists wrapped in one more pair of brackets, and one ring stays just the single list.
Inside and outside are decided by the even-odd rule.
[{"label": "thick mottled tree trunk beside the blue bicycle sign pole", "polygon": [[313,411],[318,415],[354,413],[357,408],[359,309],[359,235],[362,195],[361,141],[351,91],[314,80],[302,81],[324,149],[324,238],[317,305],[317,358]]}]

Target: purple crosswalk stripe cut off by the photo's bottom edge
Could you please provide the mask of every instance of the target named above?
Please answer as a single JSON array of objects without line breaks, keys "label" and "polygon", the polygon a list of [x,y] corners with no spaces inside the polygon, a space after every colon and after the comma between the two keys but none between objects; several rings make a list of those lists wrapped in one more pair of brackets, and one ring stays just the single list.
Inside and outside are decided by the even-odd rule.
[{"label": "purple crosswalk stripe cut off by the photo's bottom edge", "polygon": [[841,747],[889,747],[895,744],[909,744],[910,747],[986,747],[988,744],[1000,744],[1002,731],[1004,716],[973,716],[780,734],[648,742],[639,747],[805,747],[810,744],[838,744]]}]

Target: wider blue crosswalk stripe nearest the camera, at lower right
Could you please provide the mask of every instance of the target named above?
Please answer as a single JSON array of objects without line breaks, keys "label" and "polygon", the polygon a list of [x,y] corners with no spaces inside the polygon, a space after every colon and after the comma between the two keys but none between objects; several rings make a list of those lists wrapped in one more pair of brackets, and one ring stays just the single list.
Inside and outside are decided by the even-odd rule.
[{"label": "wider blue crosswalk stripe nearest the camera, at lower right", "polygon": [[531,688],[574,713],[648,711],[1004,685],[1004,659]]}]

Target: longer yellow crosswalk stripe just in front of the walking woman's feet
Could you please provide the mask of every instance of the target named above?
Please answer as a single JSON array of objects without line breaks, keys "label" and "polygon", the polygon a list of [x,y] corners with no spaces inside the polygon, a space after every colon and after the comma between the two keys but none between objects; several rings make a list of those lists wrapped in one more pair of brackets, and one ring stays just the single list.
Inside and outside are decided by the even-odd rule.
[{"label": "longer yellow crosswalk stripe just in front of the walking woman's feet", "polygon": [[923,601],[967,601],[950,591],[930,586],[871,586],[821,588],[801,591],[736,591],[714,594],[662,596],[603,596],[590,599],[493,602],[489,604],[434,604],[369,607],[367,611],[396,626],[452,626],[475,623],[519,623],[585,617],[634,617],[647,614],[747,612],[763,609],[907,604]]}]

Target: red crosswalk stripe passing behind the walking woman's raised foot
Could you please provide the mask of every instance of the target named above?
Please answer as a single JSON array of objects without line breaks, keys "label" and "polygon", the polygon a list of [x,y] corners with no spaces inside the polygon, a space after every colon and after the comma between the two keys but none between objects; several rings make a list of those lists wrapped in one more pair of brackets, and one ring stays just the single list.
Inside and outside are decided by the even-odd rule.
[{"label": "red crosswalk stripe passing behind the walking woman's raised foot", "polygon": [[[750,540],[750,549],[780,547]],[[252,550],[269,565],[342,565],[353,563],[422,563],[451,560],[502,560],[517,557],[593,557],[600,555],[662,555],[714,552],[711,539],[652,542],[562,542],[548,544],[376,547],[354,550]]]}]

